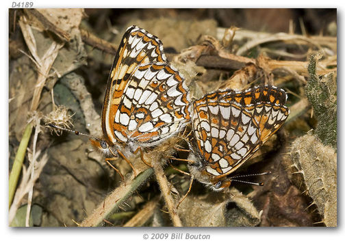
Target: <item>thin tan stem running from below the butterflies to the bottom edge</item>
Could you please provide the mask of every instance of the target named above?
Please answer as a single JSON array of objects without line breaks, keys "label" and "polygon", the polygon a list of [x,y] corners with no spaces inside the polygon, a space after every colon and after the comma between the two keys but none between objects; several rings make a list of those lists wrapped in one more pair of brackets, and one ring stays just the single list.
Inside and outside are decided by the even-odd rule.
[{"label": "thin tan stem running from below the butterflies to the bottom edge", "polygon": [[155,158],[153,159],[152,165],[153,169],[155,170],[155,176],[159,184],[159,187],[162,191],[162,195],[164,196],[166,206],[168,207],[169,215],[172,220],[172,225],[174,225],[175,227],[182,227],[181,219],[179,218],[179,215],[177,215],[175,201],[172,199],[172,196],[170,195],[168,180],[166,179],[166,176],[164,174],[162,164],[159,163],[159,159]]}]

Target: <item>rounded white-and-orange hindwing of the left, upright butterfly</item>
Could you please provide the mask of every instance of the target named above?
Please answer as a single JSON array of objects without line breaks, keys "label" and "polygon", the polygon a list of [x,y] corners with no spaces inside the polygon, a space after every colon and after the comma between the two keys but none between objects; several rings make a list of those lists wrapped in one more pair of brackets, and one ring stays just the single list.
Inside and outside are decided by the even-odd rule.
[{"label": "rounded white-and-orange hindwing of the left, upright butterfly", "polygon": [[115,135],[139,146],[155,146],[190,120],[189,91],[166,63],[144,64],[133,72],[114,118]]}]

